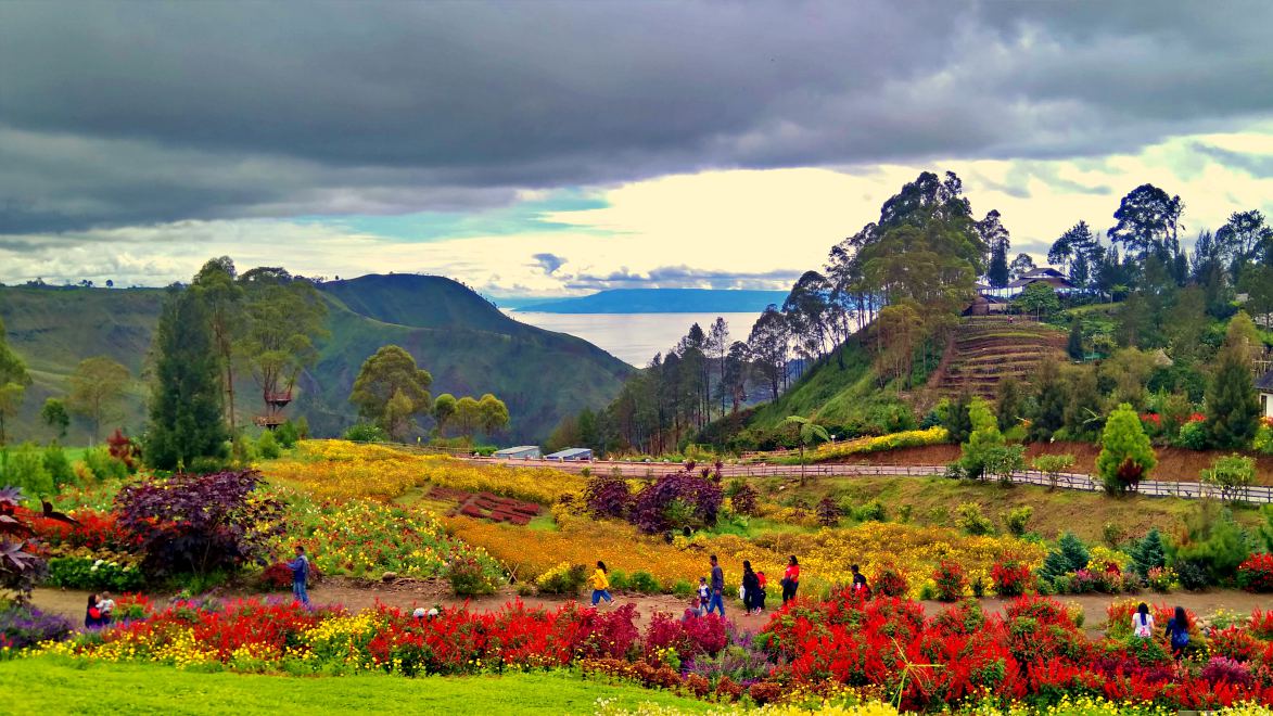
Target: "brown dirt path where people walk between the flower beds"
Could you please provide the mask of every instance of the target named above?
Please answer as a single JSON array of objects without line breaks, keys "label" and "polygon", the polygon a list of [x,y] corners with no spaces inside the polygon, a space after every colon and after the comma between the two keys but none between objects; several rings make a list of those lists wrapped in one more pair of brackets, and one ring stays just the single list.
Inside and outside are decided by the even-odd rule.
[{"label": "brown dirt path where people walk between the flower beds", "polygon": [[[323,584],[320,584],[309,590],[309,599],[313,604],[340,604],[349,610],[359,612],[363,609],[374,608],[377,604],[384,604],[388,607],[397,607],[398,609],[411,610],[416,607],[458,607],[465,603],[468,604],[471,609],[475,610],[495,610],[504,604],[518,599],[517,594],[512,589],[505,588],[502,593],[493,596],[482,596],[479,599],[457,599],[448,594],[440,594],[440,586],[438,582],[398,582],[393,585],[365,585],[362,582],[355,582],[353,580],[332,579]],[[246,596],[247,593],[228,591],[223,596]],[[292,596],[290,591],[278,591],[271,593],[272,596],[288,599]],[[163,602],[171,595],[154,595],[157,602]],[[545,598],[545,596],[523,596],[522,602],[530,607],[546,607],[556,608],[563,603],[568,602],[564,598]],[[1268,595],[1249,594],[1246,591],[1232,591],[1232,590],[1217,590],[1217,591],[1203,591],[1203,593],[1178,593],[1178,594],[1141,594],[1141,595],[1118,595],[1111,596],[1108,594],[1081,594],[1081,595],[1068,595],[1057,598],[1063,604],[1077,604],[1083,609],[1085,616],[1085,630],[1091,636],[1099,636],[1100,631],[1105,624],[1105,612],[1106,608],[1113,603],[1123,599],[1137,599],[1142,602],[1148,602],[1151,604],[1166,603],[1171,605],[1181,605],[1186,609],[1193,610],[1199,617],[1206,617],[1214,613],[1218,609],[1226,609],[1235,612],[1237,614],[1250,614],[1251,609],[1256,607],[1262,609],[1273,609],[1273,599]],[[33,602],[36,607],[43,609],[45,612],[52,612],[62,614],[75,623],[80,623],[84,618],[84,608],[88,602],[87,591],[76,590],[60,590],[60,589],[37,589],[34,593]],[[580,604],[587,604],[587,596],[577,599]],[[616,594],[615,604],[635,604],[638,612],[638,624],[644,626],[651,614],[654,612],[666,612],[670,614],[680,616],[685,608],[689,605],[687,599],[681,599],[671,595],[644,595],[644,594]],[[924,602],[924,610],[928,614],[936,614],[945,607],[939,602]],[[981,600],[981,607],[987,612],[1002,613],[1006,600],[997,598],[987,598]],[[769,621],[769,616],[777,607],[782,605],[782,600],[770,599],[770,610],[766,614],[747,616],[742,613],[741,605],[737,600],[726,605],[726,616],[729,621],[740,627],[742,631],[755,632],[761,630]]]}]

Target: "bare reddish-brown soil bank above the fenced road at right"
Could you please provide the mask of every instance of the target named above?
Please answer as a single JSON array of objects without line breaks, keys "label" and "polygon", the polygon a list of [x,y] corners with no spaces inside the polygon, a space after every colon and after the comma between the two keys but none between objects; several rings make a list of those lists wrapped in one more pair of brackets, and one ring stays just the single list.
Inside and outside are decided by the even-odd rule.
[{"label": "bare reddish-brown soil bank above the fenced road at right", "polygon": [[[867,453],[853,455],[844,460],[853,464],[876,465],[945,465],[959,459],[959,445],[925,445],[922,448],[900,448],[887,453]],[[1228,453],[1223,450],[1186,450],[1183,448],[1156,448],[1158,465],[1153,468],[1151,479],[1175,482],[1197,482],[1198,473],[1209,468],[1216,458]],[[1074,455],[1074,472],[1094,474],[1096,455],[1100,446],[1091,443],[1034,443],[1026,445],[1026,462],[1039,455]],[[1256,483],[1273,486],[1273,455],[1255,457]]]}]

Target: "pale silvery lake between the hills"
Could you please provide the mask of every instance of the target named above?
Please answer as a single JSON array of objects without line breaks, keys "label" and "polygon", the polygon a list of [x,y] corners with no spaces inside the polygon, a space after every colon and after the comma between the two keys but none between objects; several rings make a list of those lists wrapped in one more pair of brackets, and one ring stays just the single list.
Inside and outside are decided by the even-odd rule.
[{"label": "pale silvery lake between the hills", "polygon": [[717,317],[729,324],[731,341],[746,341],[760,313],[537,313],[507,310],[516,320],[578,336],[610,355],[644,368],[654,354],[666,354],[698,323],[712,329]]}]

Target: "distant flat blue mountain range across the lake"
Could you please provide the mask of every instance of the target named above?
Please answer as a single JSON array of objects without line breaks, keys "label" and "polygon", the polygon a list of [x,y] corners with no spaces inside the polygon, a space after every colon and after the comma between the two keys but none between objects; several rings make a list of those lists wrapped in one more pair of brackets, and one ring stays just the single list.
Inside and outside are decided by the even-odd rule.
[{"label": "distant flat blue mountain range across the lake", "polygon": [[611,289],[573,299],[510,299],[505,308],[538,313],[760,313],[782,305],[787,291],[714,289]]}]

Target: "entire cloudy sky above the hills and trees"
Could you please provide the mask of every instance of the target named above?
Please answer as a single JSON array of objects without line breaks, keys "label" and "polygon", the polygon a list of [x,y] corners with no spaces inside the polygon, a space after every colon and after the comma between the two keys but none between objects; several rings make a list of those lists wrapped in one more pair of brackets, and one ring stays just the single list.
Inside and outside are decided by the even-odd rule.
[{"label": "entire cloudy sky above the hills and trees", "polygon": [[0,282],[787,289],[923,170],[1273,214],[1267,1],[0,3]]}]

